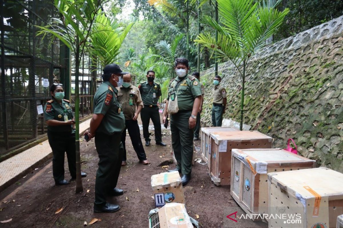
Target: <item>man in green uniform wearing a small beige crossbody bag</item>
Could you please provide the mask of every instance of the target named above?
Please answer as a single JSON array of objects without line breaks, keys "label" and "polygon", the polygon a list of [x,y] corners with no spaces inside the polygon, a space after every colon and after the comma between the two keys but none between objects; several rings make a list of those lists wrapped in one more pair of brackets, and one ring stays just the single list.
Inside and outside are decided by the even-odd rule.
[{"label": "man in green uniform wearing a small beige crossbody bag", "polygon": [[[170,115],[171,143],[177,161],[176,170],[182,173],[182,185],[191,178],[193,158],[193,130],[201,104],[201,86],[193,76],[187,75],[189,70],[186,58],[175,60],[177,77],[169,84],[166,108],[163,112],[163,123],[171,106],[178,106],[177,113]],[[170,103],[170,106],[168,106]],[[169,109],[169,110],[168,110]],[[175,170],[170,170],[175,171]]]}]

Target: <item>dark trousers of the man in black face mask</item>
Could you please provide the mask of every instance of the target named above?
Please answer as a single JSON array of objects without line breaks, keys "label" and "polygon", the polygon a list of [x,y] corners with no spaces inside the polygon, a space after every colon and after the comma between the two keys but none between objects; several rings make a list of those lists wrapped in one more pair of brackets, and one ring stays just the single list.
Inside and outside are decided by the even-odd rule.
[{"label": "dark trousers of the man in black face mask", "polygon": [[144,106],[141,111],[141,119],[143,124],[143,136],[145,141],[150,141],[149,134],[149,123],[150,119],[154,124],[155,129],[155,141],[156,143],[162,142],[162,130],[161,130],[161,120],[159,118],[158,107]]}]

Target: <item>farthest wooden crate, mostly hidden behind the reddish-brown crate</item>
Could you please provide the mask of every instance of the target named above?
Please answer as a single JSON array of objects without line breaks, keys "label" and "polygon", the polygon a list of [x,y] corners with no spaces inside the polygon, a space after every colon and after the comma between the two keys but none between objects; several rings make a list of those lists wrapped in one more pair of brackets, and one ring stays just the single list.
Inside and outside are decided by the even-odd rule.
[{"label": "farthest wooden crate, mostly hidden behind the reddish-brown crate", "polygon": [[207,162],[208,168],[210,168],[211,159],[211,133],[226,132],[226,131],[238,131],[234,128],[222,128],[222,127],[210,127],[201,128],[201,158]]}]

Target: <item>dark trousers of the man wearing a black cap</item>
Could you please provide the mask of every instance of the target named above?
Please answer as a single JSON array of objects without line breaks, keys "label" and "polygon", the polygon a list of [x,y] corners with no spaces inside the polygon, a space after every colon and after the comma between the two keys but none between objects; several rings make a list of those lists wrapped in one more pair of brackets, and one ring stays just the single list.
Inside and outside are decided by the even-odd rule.
[{"label": "dark trousers of the man wearing a black cap", "polygon": [[120,139],[121,133],[95,135],[95,146],[99,156],[95,179],[96,205],[104,205],[108,193],[117,186],[124,150]]}]

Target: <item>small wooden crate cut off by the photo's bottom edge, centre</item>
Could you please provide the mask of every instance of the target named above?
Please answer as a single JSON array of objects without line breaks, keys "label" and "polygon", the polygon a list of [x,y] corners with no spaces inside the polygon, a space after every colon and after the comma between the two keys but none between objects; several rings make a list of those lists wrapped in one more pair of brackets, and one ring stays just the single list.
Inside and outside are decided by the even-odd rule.
[{"label": "small wooden crate cut off by the photo's bottom edge, centre", "polygon": [[168,203],[149,217],[149,228],[193,228],[182,203]]}]

